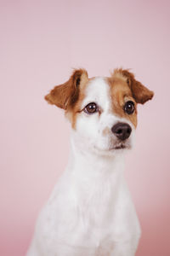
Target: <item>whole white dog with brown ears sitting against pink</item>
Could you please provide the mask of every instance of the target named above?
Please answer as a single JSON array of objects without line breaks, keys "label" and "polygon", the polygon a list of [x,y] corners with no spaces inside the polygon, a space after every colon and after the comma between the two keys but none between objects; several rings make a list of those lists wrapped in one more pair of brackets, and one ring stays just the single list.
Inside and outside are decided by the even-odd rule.
[{"label": "whole white dog with brown ears sitting against pink", "polygon": [[85,69],[45,100],[71,122],[71,154],[37,220],[27,256],[134,256],[140,226],[123,176],[137,105],[154,93],[128,69],[88,79]]}]

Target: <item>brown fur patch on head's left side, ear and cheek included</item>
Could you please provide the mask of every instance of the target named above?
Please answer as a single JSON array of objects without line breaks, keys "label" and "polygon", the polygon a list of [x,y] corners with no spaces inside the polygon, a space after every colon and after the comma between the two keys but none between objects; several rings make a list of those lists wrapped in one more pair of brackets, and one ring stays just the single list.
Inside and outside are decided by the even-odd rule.
[{"label": "brown fur patch on head's left side, ear and cheek included", "polygon": [[59,108],[65,109],[65,114],[71,120],[75,128],[77,113],[80,111],[80,103],[84,97],[84,90],[88,83],[88,73],[85,69],[75,70],[71,78],[64,84],[54,87],[45,96],[45,100]]}]

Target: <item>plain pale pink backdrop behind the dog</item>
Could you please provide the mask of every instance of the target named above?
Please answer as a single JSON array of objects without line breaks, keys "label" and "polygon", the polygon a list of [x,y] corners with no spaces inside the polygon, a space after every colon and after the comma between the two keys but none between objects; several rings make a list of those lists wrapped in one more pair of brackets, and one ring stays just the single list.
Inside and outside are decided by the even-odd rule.
[{"label": "plain pale pink backdrop behind the dog", "polygon": [[43,96],[72,67],[131,67],[155,91],[139,106],[126,176],[138,256],[170,255],[169,1],[1,1],[0,255],[21,256],[68,156],[69,124]]}]

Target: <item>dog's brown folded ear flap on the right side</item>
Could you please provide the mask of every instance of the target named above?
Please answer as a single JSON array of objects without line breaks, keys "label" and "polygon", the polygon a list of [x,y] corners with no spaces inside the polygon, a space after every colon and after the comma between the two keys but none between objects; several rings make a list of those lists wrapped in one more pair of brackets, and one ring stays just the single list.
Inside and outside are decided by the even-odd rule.
[{"label": "dog's brown folded ear flap on the right side", "polygon": [[127,84],[133,93],[133,98],[137,103],[144,104],[152,99],[154,92],[147,89],[143,84],[134,78],[133,73],[130,73],[127,69],[122,69],[121,73],[123,77],[127,78]]}]

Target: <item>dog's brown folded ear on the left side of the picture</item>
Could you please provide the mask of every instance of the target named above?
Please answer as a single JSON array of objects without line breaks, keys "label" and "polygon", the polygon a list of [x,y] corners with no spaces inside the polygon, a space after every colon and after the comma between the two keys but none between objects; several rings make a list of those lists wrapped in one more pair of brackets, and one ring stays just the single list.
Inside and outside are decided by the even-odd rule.
[{"label": "dog's brown folded ear on the left side of the picture", "polygon": [[54,87],[53,90],[45,96],[45,100],[50,104],[54,104],[59,108],[67,110],[77,102],[80,86],[87,83],[88,73],[85,69],[76,69],[71,75],[71,78]]}]

